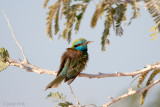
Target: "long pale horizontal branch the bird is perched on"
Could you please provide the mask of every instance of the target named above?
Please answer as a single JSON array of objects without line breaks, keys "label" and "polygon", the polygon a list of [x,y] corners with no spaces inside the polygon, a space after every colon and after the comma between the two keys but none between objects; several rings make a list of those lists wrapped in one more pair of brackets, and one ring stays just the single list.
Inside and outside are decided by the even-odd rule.
[{"label": "long pale horizontal branch the bird is perched on", "polygon": [[[26,71],[29,72],[36,72],[39,74],[45,73],[45,74],[50,74],[50,75],[56,75],[57,72],[56,71],[50,71],[50,70],[46,70],[43,68],[39,68],[35,65],[32,65],[30,63],[24,63],[21,61],[16,61],[13,59],[9,59],[9,64],[12,66],[16,66],[19,67],[21,69],[25,69]],[[128,72],[128,73],[120,73],[120,72],[115,72],[115,73],[99,73],[99,74],[85,74],[85,73],[80,73],[79,77],[86,77],[86,78],[107,78],[107,77],[122,77],[122,76],[132,76],[134,77],[135,75],[141,74],[143,72],[148,72],[148,71],[152,71],[155,69],[160,69],[160,63],[155,63],[153,65],[147,65],[146,68],[143,68],[141,70],[138,70],[136,72]]]}]

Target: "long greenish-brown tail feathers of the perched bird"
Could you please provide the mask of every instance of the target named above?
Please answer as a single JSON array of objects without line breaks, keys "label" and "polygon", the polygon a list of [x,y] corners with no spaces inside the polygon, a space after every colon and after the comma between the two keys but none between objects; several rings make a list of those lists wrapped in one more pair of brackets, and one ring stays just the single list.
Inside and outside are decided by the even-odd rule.
[{"label": "long greenish-brown tail feathers of the perched bird", "polygon": [[63,81],[64,78],[65,78],[65,76],[62,76],[62,75],[57,76],[52,82],[50,82],[46,86],[46,90],[49,88],[57,88],[61,84],[61,82]]}]

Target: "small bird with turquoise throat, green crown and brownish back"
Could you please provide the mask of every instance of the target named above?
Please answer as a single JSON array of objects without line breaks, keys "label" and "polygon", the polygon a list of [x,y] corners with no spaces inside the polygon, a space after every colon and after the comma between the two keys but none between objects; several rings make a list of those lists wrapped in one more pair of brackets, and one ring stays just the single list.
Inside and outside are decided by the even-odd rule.
[{"label": "small bird with turquoise throat, green crown and brownish back", "polygon": [[57,88],[61,82],[71,84],[80,72],[85,68],[88,61],[87,44],[93,41],[87,41],[84,38],[77,39],[73,42],[71,48],[61,57],[61,64],[56,78],[46,86],[49,88]]}]

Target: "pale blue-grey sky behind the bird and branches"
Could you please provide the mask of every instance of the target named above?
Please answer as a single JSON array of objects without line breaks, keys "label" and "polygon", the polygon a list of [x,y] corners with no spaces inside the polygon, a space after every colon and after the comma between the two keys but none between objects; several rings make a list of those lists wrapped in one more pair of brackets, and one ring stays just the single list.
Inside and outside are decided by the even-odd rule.
[{"label": "pale blue-grey sky behind the bird and branches", "polygon": [[[44,0],[0,1],[0,47],[5,47],[12,59],[23,60],[21,51],[2,14],[2,10],[4,10],[29,62],[41,68],[58,70],[61,55],[66,48],[71,47],[71,44],[62,38],[59,40],[58,35],[53,37],[53,41],[49,41],[46,36],[45,21],[48,9],[43,9],[43,3]],[[52,4],[53,0],[49,5]],[[94,41],[88,46],[89,62],[83,73],[135,72],[144,68],[146,64],[160,62],[160,39],[152,41],[149,37],[151,34],[149,29],[155,23],[142,6],[141,16],[133,20],[130,26],[123,27],[124,35],[122,37],[116,36],[113,30],[110,32],[111,44],[106,47],[106,52],[101,51],[100,45],[104,18],[98,21],[94,29],[90,28],[90,20],[95,7],[95,2],[91,2],[79,33],[73,34],[71,41],[81,37]],[[131,12],[128,11],[128,14]],[[67,100],[76,104],[67,84],[62,83],[56,89],[44,91],[46,85],[54,78],[54,75],[30,73],[20,68],[8,67],[0,73],[0,107],[7,107],[5,104],[12,102],[24,103],[25,107],[53,107],[55,104],[47,100],[46,96],[50,92],[57,91],[66,95]],[[121,92],[127,92],[128,88],[134,88],[137,82],[130,85],[132,80],[131,77],[103,79],[77,77],[71,86],[82,105],[89,103],[103,105],[110,101],[109,96],[117,97],[122,94]],[[150,90],[146,102],[153,100],[158,87],[157,85]]]}]

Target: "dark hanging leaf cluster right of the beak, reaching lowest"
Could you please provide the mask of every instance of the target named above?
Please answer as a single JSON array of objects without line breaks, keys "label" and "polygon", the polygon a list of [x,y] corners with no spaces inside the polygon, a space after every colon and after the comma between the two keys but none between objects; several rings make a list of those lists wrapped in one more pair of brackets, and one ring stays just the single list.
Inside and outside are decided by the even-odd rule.
[{"label": "dark hanging leaf cluster right of the beak, reaching lowest", "polygon": [[[102,50],[105,51],[105,45],[109,44],[108,35],[110,31],[110,27],[116,29],[116,35],[123,35],[123,29],[121,27],[121,23],[126,20],[125,12],[127,5],[125,4],[117,4],[116,7],[107,6],[106,10],[106,20],[104,23],[104,31],[102,36]],[[116,25],[114,24],[116,22]]]}]

